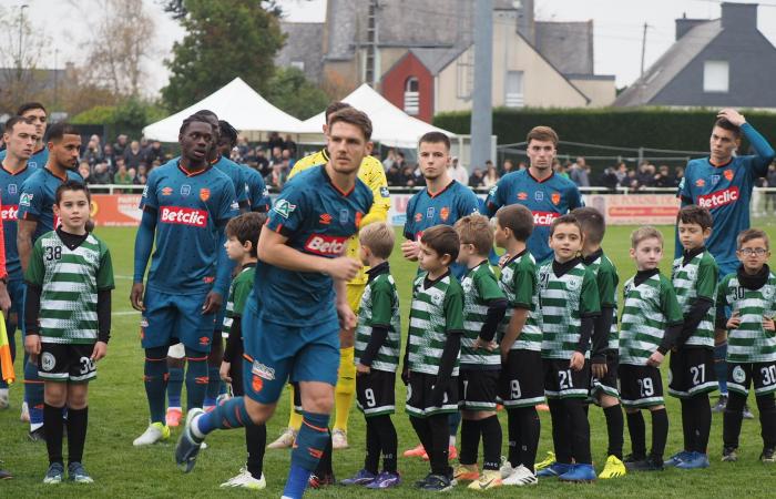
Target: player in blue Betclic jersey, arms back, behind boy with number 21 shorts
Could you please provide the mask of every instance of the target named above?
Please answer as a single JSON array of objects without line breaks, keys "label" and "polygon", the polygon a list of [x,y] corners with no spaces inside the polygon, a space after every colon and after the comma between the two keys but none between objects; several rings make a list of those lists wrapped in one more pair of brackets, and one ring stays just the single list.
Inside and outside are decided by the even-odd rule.
[{"label": "player in blue Betclic jersey, arms back, behind boy with number 21 shorts", "polygon": [[511,172],[490,190],[486,200],[488,215],[493,216],[501,206],[522,204],[533,213],[533,233],[528,240],[528,251],[537,262],[552,256],[548,245],[552,221],[582,206],[576,184],[555,175],[552,162],[558,154],[558,134],[549,126],[535,126],[525,139],[530,166]]}]

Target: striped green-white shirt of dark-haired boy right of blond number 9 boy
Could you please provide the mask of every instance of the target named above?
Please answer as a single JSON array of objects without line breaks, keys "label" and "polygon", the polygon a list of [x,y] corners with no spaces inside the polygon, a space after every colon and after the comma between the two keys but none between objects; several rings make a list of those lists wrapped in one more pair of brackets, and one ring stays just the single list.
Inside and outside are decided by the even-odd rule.
[{"label": "striped green-white shirt of dark-haired boy right of blond number 9 boy", "polygon": [[[421,273],[412,286],[409,369],[438,375],[448,334],[463,332],[463,291],[450,273],[428,283],[426,276],[427,273]],[[459,361],[460,353],[452,376],[458,376]]]}]

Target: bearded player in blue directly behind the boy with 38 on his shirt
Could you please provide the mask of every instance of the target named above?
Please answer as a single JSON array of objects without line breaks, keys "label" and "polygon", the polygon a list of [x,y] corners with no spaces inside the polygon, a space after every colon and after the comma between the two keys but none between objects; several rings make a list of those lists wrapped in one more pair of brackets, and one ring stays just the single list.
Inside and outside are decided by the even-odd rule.
[{"label": "bearded player in blue directly behind the boy with 38 on his shirt", "polygon": [[[53,211],[57,187],[68,180],[83,181],[75,172],[81,150],[81,135],[78,129],[68,123],[51,125],[47,147],[49,159],[45,165],[35,169],[24,179],[19,189],[17,251],[22,273],[27,271],[27,263],[35,241],[57,228],[58,221],[54,218]],[[20,313],[21,315],[23,314]],[[24,398],[30,414],[30,439],[42,440],[44,438],[43,381],[38,376],[38,368],[33,363],[27,363],[24,366]]]}]

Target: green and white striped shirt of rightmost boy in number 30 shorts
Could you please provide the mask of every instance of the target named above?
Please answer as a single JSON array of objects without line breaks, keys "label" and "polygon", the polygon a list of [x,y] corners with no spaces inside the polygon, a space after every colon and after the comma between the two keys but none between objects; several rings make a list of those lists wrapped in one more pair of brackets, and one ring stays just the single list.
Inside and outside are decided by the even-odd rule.
[{"label": "green and white striped shirt of rightmost boy in number 30 shorts", "polygon": [[[776,315],[776,275],[759,289],[741,285],[737,273],[722,279],[717,289],[719,310],[737,312],[741,325],[727,332],[727,361],[737,364],[776,361],[776,335],[763,329],[763,316]],[[722,312],[721,312],[722,313]]]}]

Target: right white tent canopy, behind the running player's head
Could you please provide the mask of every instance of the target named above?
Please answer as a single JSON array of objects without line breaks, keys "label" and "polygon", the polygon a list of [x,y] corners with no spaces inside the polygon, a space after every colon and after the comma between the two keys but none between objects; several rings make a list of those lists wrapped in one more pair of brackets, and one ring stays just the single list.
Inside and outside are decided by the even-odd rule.
[{"label": "right white tent canopy, behind the running player's head", "polygon": [[[418,139],[427,132],[442,132],[449,138],[456,134],[447,130],[438,129],[433,125],[412,118],[391,104],[366,83],[354,90],[348,96],[341,100],[354,108],[367,113],[371,120],[371,140],[382,145],[391,147],[416,147]],[[321,128],[326,121],[325,113],[302,122],[299,142],[312,143],[321,142]]]}]

